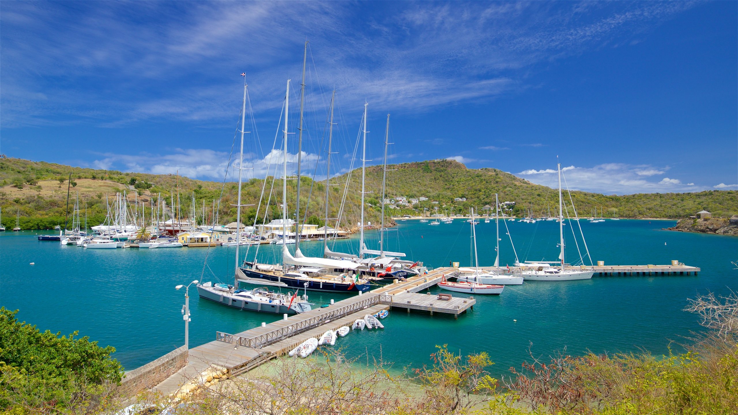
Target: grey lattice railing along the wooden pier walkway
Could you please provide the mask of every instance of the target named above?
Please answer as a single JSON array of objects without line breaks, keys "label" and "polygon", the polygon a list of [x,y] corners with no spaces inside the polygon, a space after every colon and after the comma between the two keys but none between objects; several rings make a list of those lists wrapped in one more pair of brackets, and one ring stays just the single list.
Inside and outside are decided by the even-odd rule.
[{"label": "grey lattice railing along the wooden pier walkway", "polygon": [[[298,333],[306,332],[310,329],[314,329],[315,327],[322,326],[332,320],[337,320],[338,318],[359,312],[362,309],[368,309],[370,306],[376,306],[376,304],[379,303],[392,302],[391,295],[365,294],[362,297],[363,298],[355,297],[355,301],[351,301],[348,304],[338,306],[333,309],[320,309],[321,312],[316,315],[310,315],[311,312],[307,312],[305,315],[297,315],[297,320],[294,320],[293,323],[263,333],[258,333],[260,329],[263,329],[261,327],[249,330],[241,335],[215,332],[215,340],[237,344],[238,346],[250,347],[252,349],[261,349],[265,346],[269,346],[270,344],[277,343],[280,340],[297,335]],[[269,326],[266,326],[266,329],[269,329]],[[255,332],[255,335],[248,335],[248,332]]]}]

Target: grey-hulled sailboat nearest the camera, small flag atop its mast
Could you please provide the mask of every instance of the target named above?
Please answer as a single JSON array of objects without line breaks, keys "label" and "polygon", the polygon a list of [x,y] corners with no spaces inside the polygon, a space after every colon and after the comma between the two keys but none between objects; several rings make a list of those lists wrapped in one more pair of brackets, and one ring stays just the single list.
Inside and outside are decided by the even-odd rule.
[{"label": "grey-hulled sailboat nearest the camera, small flag atop its mast", "polygon": [[[244,106],[241,109],[241,153],[238,160],[238,202],[236,205],[236,235],[240,235],[239,225],[241,224],[241,172],[244,170],[244,133],[246,129],[246,78],[244,75]],[[286,130],[286,128],[285,128]],[[286,155],[285,155],[286,159]],[[200,298],[215,301],[226,306],[235,307],[237,309],[247,309],[257,312],[273,312],[278,314],[298,314],[310,311],[311,306],[308,303],[307,295],[298,298],[297,289],[294,294],[282,294],[280,292],[269,291],[266,287],[256,289],[238,289],[239,276],[239,255],[238,244],[235,245],[235,275],[233,285],[213,284],[213,281],[197,284],[197,292]],[[295,301],[297,300],[297,301]]]}]

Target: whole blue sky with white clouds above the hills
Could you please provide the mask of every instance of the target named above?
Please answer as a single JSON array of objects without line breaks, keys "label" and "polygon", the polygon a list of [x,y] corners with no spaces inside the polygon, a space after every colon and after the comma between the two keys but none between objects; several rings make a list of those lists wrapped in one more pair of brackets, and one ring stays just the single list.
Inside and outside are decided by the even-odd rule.
[{"label": "whole blue sky with white clouds above the hills", "polygon": [[366,100],[372,163],[390,113],[392,162],[554,185],[559,156],[570,188],[736,189],[737,21],[736,1],[2,1],[0,152],[222,179],[245,71],[263,176],[288,78],[297,131],[308,39],[308,174],[336,89],[333,171]]}]

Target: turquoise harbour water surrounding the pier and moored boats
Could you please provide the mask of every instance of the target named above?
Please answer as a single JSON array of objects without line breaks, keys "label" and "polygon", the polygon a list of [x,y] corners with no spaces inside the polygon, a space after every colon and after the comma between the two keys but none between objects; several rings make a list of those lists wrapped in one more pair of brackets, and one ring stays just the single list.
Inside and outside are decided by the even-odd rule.
[{"label": "turquoise harbour water surrounding the pier and moored boats", "polygon": [[[488,351],[497,363],[493,367],[497,375],[510,366],[519,367],[528,357],[530,343],[534,354],[544,356],[564,348],[572,354],[641,349],[666,353],[671,340],[682,341],[691,330],[700,329],[697,317],[682,311],[687,298],[708,290],[725,294],[738,289],[738,270],[731,264],[738,259],[738,238],[661,230],[674,223],[621,220],[582,222],[582,227],[594,261],[669,264],[677,259],[701,267],[703,271],[697,276],[596,276],[588,281],[526,282],[506,287],[503,295],[477,296],[474,310],[458,320],[393,312],[384,320],[386,329],[351,333],[339,342],[348,354],[368,352],[378,357],[381,353],[395,368],[429,363],[428,356],[438,344],[447,343],[450,349],[463,353]],[[556,222],[508,222],[508,226],[521,261],[556,259]],[[569,226],[565,228],[570,236]],[[37,241],[35,236],[40,233],[0,234],[0,304],[20,309],[18,318],[39,329],[62,333],[79,330],[80,335],[88,335],[100,345],[114,346],[114,357],[128,370],[184,343],[180,315],[184,292],[176,291],[175,285],[193,279],[217,280],[213,274],[221,281],[230,281],[227,275],[232,275],[234,267],[233,247],[84,250]],[[500,264],[512,264],[506,231],[500,231],[500,238]],[[370,233],[368,239],[372,248],[376,233]],[[481,264],[494,261],[493,244],[494,222],[477,225]],[[349,246],[355,247],[356,240],[339,241],[335,249]],[[306,255],[314,255],[323,245],[309,242],[301,247]],[[449,261],[468,265],[469,224],[461,220],[440,226],[400,222],[399,230],[387,233],[387,248],[404,250],[410,258],[431,267],[448,265]],[[261,247],[266,258],[272,259],[273,249]],[[204,268],[205,255],[209,258]],[[568,262],[578,260],[573,240],[568,241],[567,255]],[[235,333],[280,318],[200,300],[196,289],[190,294],[190,346],[214,340],[215,331]],[[317,303],[348,296],[308,294]]]}]

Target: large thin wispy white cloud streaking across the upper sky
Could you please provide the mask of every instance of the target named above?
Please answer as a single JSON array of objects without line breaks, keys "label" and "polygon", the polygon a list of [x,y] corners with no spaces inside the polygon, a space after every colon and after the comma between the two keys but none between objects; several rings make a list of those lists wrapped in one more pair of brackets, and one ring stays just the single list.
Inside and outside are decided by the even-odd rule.
[{"label": "large thin wispy white cloud streaking across the upper sky", "polygon": [[[3,1],[1,121],[220,123],[238,108],[243,70],[255,110],[278,110],[286,78],[300,73],[306,37],[308,111],[319,111],[335,87],[352,108],[367,99],[374,108],[425,112],[524,90],[532,65],[630,40],[691,3],[377,7],[367,17],[361,5],[341,2]],[[367,29],[356,30],[356,21]]]}]

